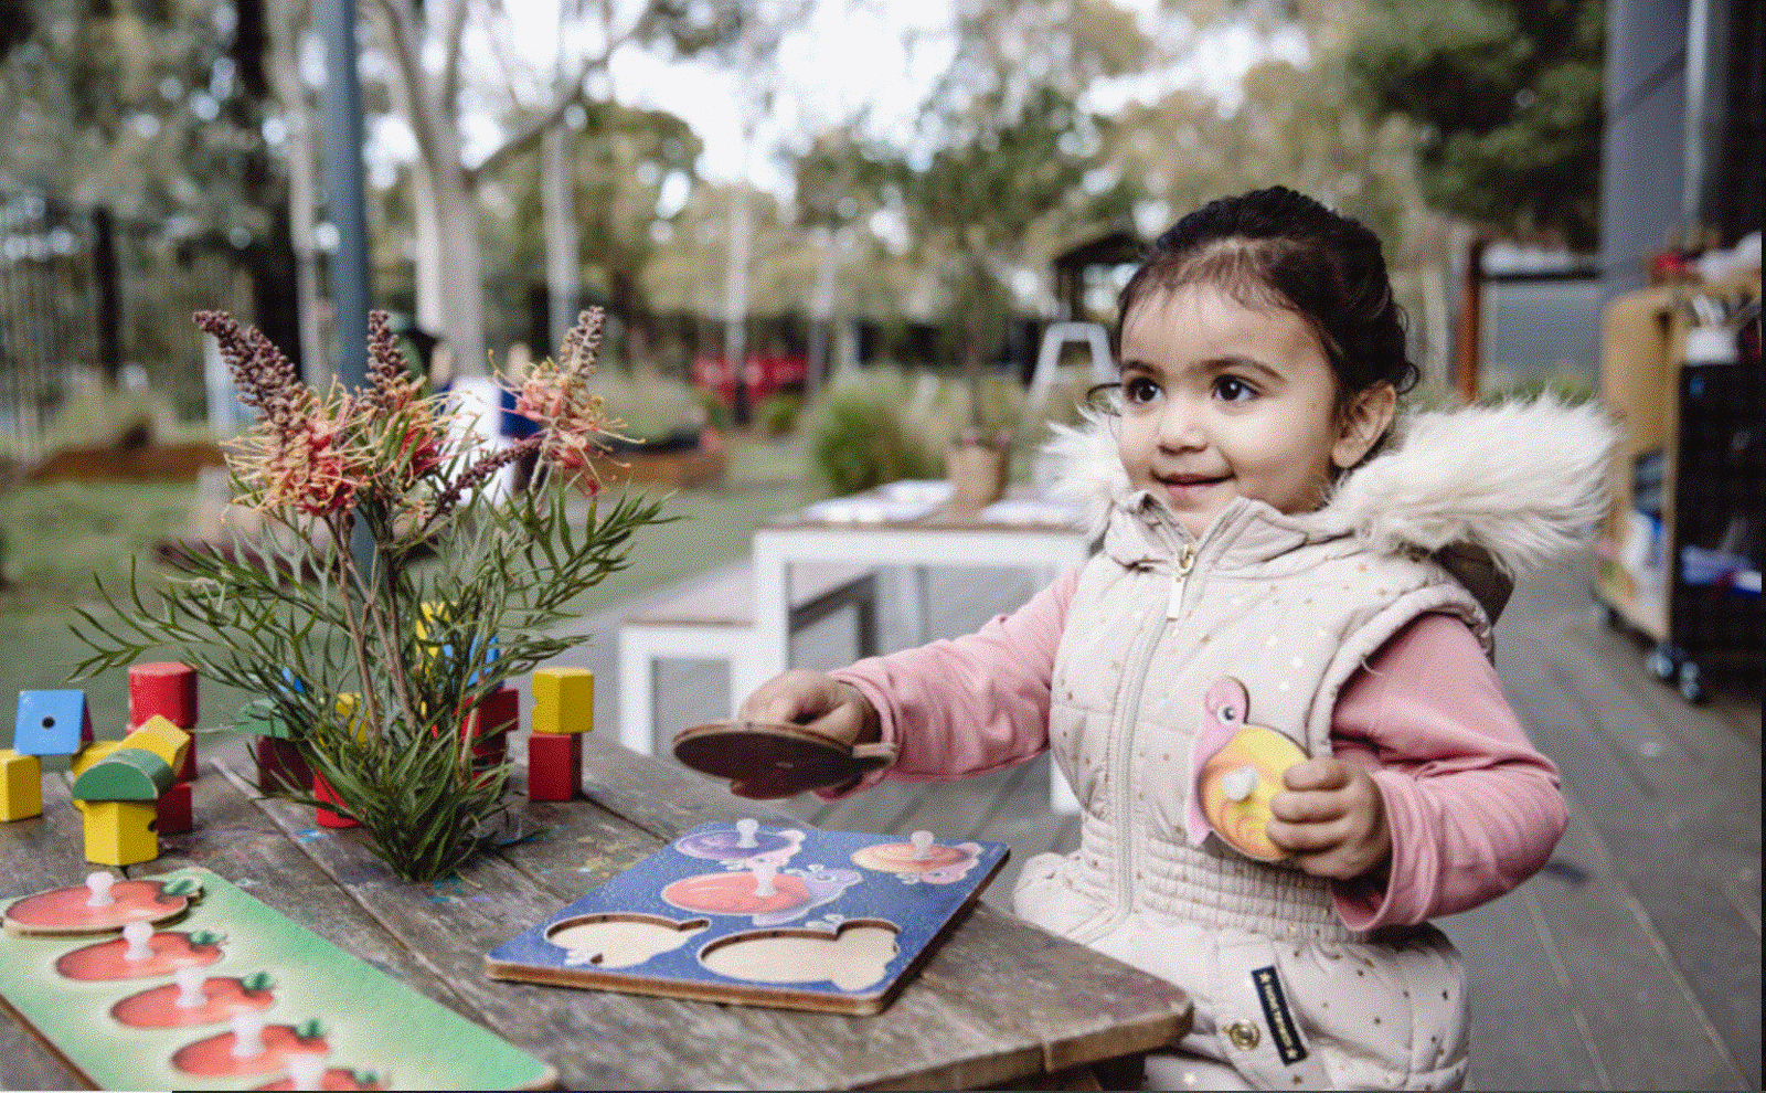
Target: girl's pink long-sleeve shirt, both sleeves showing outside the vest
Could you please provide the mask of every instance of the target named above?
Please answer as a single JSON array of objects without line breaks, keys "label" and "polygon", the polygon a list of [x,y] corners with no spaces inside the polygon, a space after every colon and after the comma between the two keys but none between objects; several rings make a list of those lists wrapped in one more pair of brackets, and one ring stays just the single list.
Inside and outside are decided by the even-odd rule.
[{"label": "girl's pink long-sleeve shirt, both sleeves showing outside the vest", "polygon": [[[954,780],[1049,747],[1054,653],[1077,584],[1074,569],[975,634],[834,673],[871,701],[883,740],[901,749],[888,777]],[[1337,699],[1332,742],[1337,758],[1372,773],[1392,828],[1383,885],[1332,885],[1353,931],[1491,901],[1533,876],[1563,835],[1558,768],[1528,742],[1457,618],[1420,616],[1356,671]]]}]

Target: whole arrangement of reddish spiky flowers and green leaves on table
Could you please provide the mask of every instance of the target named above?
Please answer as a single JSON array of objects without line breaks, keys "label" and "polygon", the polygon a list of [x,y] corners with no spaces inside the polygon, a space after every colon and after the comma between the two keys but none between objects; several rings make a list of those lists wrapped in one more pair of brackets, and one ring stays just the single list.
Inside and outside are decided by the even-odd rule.
[{"label": "whole arrangement of reddish spiky flowers and green leaves on table", "polygon": [[[316,780],[281,796],[357,821],[404,879],[447,876],[498,839],[507,756],[477,758],[493,690],[581,643],[556,634],[569,602],[629,563],[660,503],[604,505],[592,463],[618,422],[586,388],[604,316],[585,311],[560,358],[532,366],[516,410],[540,429],[484,450],[443,396],[410,376],[385,313],[369,318],[360,388],[304,385],[260,330],[198,313],[258,410],[226,450],[235,501],[261,514],[258,553],[185,546],[152,602],[129,579],[83,609],[92,655],[76,678],[171,648],[200,675],[261,696],[240,724],[298,742]],[[507,385],[507,383],[505,383]],[[484,496],[505,464],[539,452],[544,484]],[[567,500],[588,494],[581,530]],[[238,544],[237,544],[238,546]]]}]

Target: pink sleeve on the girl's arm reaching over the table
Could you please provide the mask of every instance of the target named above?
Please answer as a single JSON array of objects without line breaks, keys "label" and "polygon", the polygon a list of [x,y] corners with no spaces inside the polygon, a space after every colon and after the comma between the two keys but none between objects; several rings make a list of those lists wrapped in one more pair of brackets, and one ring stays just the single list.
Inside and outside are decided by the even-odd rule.
[{"label": "pink sleeve on the girl's arm reaching over the table", "polygon": [[[876,706],[901,756],[892,779],[948,782],[1012,766],[1049,747],[1049,685],[1079,570],[975,634],[871,657],[832,673]],[[867,789],[881,773],[865,777]],[[834,795],[828,795],[834,796]]]}]

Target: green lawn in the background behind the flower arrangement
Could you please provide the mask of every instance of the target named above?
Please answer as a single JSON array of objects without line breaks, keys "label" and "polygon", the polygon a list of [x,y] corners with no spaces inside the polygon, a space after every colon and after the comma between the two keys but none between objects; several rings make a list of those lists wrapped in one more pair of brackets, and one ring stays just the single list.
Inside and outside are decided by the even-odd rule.
[{"label": "green lawn in the background behind the flower arrangement", "polygon": [[[643,528],[632,540],[632,563],[577,597],[572,609],[595,614],[747,556],[754,528],[765,519],[825,496],[807,482],[795,440],[733,440],[729,475],[721,486],[668,496],[675,523]],[[657,494],[653,487],[645,493]],[[69,623],[74,604],[97,600],[94,577],[125,593],[131,558],[143,584],[159,588],[166,574],[154,562],[155,540],[182,531],[196,500],[194,484],[30,484],[0,491],[0,742],[12,740],[19,690],[79,687],[87,692],[99,738],[124,733],[127,676],[69,683],[87,655]],[[166,652],[166,659],[177,659]],[[251,696],[203,682],[203,724],[223,724]]]}]

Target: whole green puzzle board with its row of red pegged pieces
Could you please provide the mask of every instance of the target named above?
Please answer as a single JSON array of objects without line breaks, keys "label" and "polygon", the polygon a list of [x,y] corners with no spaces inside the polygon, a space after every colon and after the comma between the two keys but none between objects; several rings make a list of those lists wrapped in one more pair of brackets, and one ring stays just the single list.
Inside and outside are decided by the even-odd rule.
[{"label": "whole green puzzle board with its row of red pegged pieces", "polygon": [[556,1082],[540,1059],[194,867],[92,874],[9,902],[0,996],[90,1088]]}]

